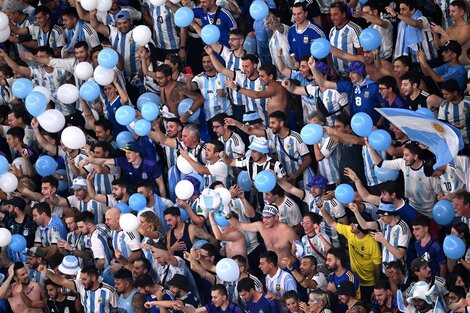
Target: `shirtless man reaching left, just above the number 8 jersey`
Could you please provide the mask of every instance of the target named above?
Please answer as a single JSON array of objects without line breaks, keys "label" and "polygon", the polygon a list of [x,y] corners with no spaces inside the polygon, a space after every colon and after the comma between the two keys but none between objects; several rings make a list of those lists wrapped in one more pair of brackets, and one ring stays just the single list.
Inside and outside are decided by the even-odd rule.
[{"label": "shirtless man reaching left, just above the number 8 jersey", "polygon": [[379,51],[366,51],[360,54],[349,54],[334,46],[331,46],[331,54],[348,62],[359,61],[366,65],[366,73],[373,81],[379,80],[381,77],[393,73],[393,66],[390,62],[381,59],[378,56]]}]

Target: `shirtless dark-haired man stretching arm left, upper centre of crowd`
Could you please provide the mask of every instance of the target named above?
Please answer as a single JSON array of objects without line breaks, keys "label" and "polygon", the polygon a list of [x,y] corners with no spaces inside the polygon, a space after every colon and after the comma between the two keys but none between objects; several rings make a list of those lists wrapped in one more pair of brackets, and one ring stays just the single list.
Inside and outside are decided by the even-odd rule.
[{"label": "shirtless dark-haired man stretching arm left, upper centre of crowd", "polygon": [[276,80],[277,70],[272,64],[262,65],[259,68],[259,79],[261,83],[266,86],[265,90],[255,91],[247,88],[242,88],[237,85],[233,80],[227,83],[228,87],[238,91],[242,95],[250,98],[266,100],[266,111],[269,114],[276,111],[282,111],[287,114],[287,93],[282,85]]}]

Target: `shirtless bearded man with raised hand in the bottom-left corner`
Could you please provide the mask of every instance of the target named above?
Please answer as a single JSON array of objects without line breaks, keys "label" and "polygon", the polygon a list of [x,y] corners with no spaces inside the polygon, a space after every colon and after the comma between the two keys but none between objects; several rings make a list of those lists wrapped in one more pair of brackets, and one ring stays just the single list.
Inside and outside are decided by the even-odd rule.
[{"label": "shirtless bearded man with raised hand in the bottom-left corner", "polygon": [[[16,282],[11,284],[13,278]],[[8,268],[8,277],[0,287],[0,299],[8,299],[14,313],[41,313],[47,305],[44,289],[30,281],[28,270],[21,262],[13,263]]]}]

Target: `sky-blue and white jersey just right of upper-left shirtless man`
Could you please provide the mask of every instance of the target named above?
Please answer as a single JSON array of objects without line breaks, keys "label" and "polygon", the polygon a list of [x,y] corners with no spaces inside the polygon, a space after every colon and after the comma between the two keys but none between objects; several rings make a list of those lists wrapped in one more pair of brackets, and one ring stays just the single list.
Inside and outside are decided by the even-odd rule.
[{"label": "sky-blue and white jersey just right of upper-left shirtless man", "polygon": [[204,97],[204,112],[206,121],[219,113],[232,115],[232,105],[226,96],[220,96],[218,91],[225,92],[225,76],[217,73],[214,76],[207,76],[202,72],[196,75],[193,80]]}]

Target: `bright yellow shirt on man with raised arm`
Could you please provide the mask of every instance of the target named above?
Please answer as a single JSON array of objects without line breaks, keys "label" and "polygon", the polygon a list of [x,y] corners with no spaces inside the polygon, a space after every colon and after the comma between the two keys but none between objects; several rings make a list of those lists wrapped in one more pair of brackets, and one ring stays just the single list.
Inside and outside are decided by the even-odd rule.
[{"label": "bright yellow shirt on man with raised arm", "polygon": [[336,230],[348,240],[351,270],[359,276],[361,286],[374,286],[374,265],[382,264],[379,243],[369,234],[362,239],[357,238],[350,225],[337,223]]}]

